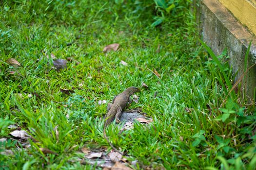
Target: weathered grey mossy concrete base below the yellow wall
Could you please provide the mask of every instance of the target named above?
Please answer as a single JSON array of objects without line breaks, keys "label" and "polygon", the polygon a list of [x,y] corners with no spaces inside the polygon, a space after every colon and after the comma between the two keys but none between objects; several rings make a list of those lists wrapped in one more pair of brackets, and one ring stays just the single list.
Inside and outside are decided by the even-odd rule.
[{"label": "weathered grey mossy concrete base below the yellow wall", "polygon": [[[256,63],[256,37],[240,24],[232,14],[217,0],[202,0],[200,3],[200,28],[203,40],[217,54],[226,48],[230,65],[237,79],[243,74],[244,57],[250,48],[248,66]],[[243,85],[246,95],[253,99],[256,88],[256,66],[246,74]]]}]

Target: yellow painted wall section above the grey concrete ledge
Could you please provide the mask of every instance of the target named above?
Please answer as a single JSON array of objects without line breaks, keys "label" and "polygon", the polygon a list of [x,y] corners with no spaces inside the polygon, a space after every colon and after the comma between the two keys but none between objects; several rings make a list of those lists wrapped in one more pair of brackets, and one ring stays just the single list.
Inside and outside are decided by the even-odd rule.
[{"label": "yellow painted wall section above the grey concrete ledge", "polygon": [[256,35],[256,0],[219,0],[242,24]]}]

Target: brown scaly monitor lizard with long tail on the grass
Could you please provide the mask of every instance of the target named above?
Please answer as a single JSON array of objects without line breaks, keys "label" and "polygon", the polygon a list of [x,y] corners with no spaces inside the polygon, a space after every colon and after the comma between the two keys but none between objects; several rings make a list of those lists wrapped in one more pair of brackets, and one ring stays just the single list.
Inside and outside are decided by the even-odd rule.
[{"label": "brown scaly monitor lizard with long tail on the grass", "polygon": [[113,144],[109,141],[108,136],[106,135],[106,127],[109,125],[116,117],[116,122],[119,123],[120,116],[122,109],[124,109],[127,105],[127,103],[131,103],[131,95],[133,95],[135,92],[140,91],[137,87],[128,87],[126,90],[124,90],[122,93],[118,94],[112,101],[112,103],[108,104],[108,114],[104,123],[103,128],[103,135],[108,141],[109,145],[118,153],[122,154],[120,151],[118,151],[117,148],[113,146]]}]

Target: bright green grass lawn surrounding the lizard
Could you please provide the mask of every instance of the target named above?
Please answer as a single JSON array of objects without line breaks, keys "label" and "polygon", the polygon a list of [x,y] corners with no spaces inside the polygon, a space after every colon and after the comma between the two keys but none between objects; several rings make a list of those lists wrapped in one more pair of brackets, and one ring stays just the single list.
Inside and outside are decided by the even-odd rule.
[{"label": "bright green grass lawn surrounding the lizard", "polygon": [[[146,127],[135,123],[121,134],[111,124],[107,132],[127,152],[129,163],[138,160],[135,169],[253,170],[255,105],[246,104],[238,91],[219,108],[234,77],[228,63],[216,59],[226,61],[228,56],[210,53],[212,60],[204,52],[190,3],[175,2],[172,12],[165,13],[147,0],[1,1],[0,138],[10,139],[1,143],[0,151],[14,154],[1,155],[0,167],[95,168],[76,160],[83,158],[77,151],[84,146],[111,150],[102,134],[106,104],[98,101],[111,102],[126,87],[144,82],[149,89],[138,93],[139,102],[131,107],[142,108],[154,122]],[[156,15],[163,21],[152,27]],[[119,43],[119,50],[103,53],[112,43]],[[45,58],[50,53],[80,64],[68,62],[67,69],[57,71]],[[5,63],[8,58],[21,67]],[[160,78],[150,71],[154,69]],[[60,88],[75,93],[66,95]],[[36,93],[40,99],[19,93]],[[33,137],[28,139],[31,147],[11,139],[7,126],[14,123]]]}]

